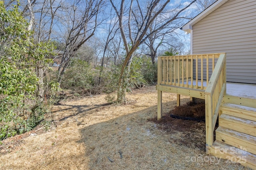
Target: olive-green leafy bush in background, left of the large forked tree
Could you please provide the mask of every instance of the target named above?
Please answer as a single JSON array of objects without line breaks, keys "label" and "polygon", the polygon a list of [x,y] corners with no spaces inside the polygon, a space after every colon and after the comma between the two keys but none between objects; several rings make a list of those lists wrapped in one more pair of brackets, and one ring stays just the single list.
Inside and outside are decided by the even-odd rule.
[{"label": "olive-green leafy bush in background, left of the large forked tree", "polygon": [[[79,94],[111,93],[116,90],[120,66],[92,67],[86,61],[73,59],[64,73],[62,88],[72,89]],[[101,80],[99,82],[99,76]]]}]

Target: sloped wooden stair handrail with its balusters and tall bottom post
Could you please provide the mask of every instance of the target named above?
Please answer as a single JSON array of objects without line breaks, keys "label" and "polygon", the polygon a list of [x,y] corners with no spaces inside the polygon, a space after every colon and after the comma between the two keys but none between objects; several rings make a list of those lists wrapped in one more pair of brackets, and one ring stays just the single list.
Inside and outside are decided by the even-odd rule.
[{"label": "sloped wooden stair handrail with its balusters and tall bottom post", "polygon": [[226,93],[226,53],[221,54],[205,90],[206,146],[214,143],[213,132]]}]

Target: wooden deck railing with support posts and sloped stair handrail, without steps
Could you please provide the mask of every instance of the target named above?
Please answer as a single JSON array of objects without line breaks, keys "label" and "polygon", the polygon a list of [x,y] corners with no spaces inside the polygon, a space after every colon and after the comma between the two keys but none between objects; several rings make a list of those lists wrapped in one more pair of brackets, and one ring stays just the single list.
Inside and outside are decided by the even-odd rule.
[{"label": "wooden deck railing with support posts and sloped stair handrail, without steps", "polygon": [[158,119],[162,117],[162,91],[176,93],[177,105],[180,94],[205,99],[206,145],[212,146],[214,127],[226,93],[226,53],[158,57],[157,90]]}]

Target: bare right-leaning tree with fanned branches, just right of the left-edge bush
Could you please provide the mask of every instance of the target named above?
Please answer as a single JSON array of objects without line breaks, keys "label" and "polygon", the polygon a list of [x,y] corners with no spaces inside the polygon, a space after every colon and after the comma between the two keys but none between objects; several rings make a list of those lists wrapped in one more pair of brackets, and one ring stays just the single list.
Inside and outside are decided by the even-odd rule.
[{"label": "bare right-leaning tree with fanned branches, just right of the left-edge bush", "polygon": [[62,26],[65,27],[62,33],[65,35],[65,49],[58,69],[59,84],[70,59],[94,35],[99,24],[97,17],[103,3],[103,0],[77,0],[62,8],[63,16],[61,18],[64,23]]}]

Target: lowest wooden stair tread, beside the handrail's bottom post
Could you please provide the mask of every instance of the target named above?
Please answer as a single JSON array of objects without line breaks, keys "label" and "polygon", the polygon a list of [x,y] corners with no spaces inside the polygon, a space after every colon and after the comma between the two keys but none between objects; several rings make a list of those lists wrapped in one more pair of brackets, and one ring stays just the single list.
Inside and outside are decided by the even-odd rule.
[{"label": "lowest wooden stair tread, beside the handrail's bottom post", "polygon": [[[220,141],[214,141],[212,148],[215,150],[218,150],[222,153],[225,153],[225,154],[228,154],[235,158],[238,158],[238,160],[241,160],[241,161],[245,160],[246,163],[256,166],[256,155],[255,154],[252,154],[252,153],[247,152],[242,149],[238,149],[236,147],[232,147],[231,145],[228,145],[228,144],[220,142]],[[225,156],[223,158],[225,159]],[[228,159],[228,158],[226,158],[226,159]],[[238,162],[238,163],[241,163],[241,162]]]}]

